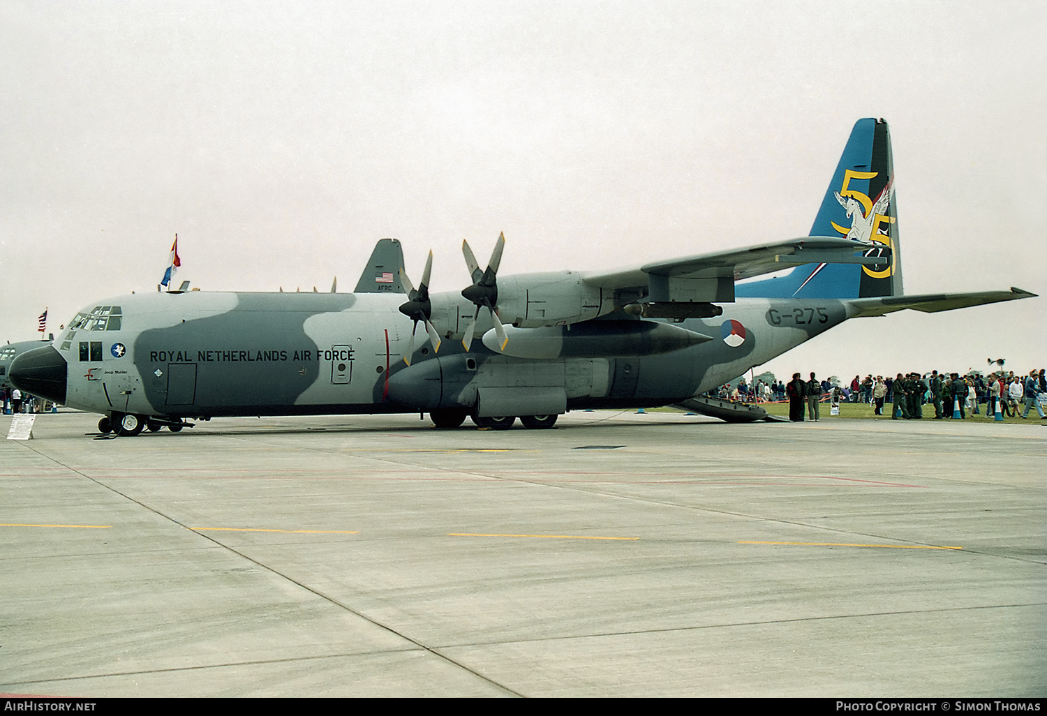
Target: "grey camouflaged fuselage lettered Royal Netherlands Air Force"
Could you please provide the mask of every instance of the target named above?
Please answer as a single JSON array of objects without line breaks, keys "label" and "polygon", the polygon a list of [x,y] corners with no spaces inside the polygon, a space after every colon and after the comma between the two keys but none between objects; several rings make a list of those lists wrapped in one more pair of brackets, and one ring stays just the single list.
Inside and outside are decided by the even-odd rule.
[{"label": "grey camouflaged fuselage lettered Royal Netherlands Air Force", "polygon": [[[704,337],[689,348],[642,355],[633,336],[616,331],[597,343],[601,355],[534,359],[499,355],[480,341],[466,353],[460,325],[472,319],[473,307],[448,298],[447,314],[455,319],[437,325],[446,338],[439,355],[423,344],[408,366],[403,354],[411,322],[398,312],[402,300],[376,293],[112,298],[85,309],[95,318],[80,321],[55,344],[68,366],[63,402],[92,412],[166,419],[665,405],[719,385],[847,317],[841,300],[744,299],[725,306],[721,316],[674,323]],[[601,322],[586,326],[599,331]],[[490,321],[485,326],[482,316],[478,328],[486,331]]]}]

